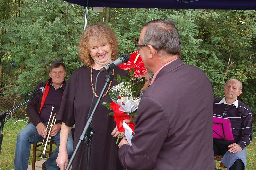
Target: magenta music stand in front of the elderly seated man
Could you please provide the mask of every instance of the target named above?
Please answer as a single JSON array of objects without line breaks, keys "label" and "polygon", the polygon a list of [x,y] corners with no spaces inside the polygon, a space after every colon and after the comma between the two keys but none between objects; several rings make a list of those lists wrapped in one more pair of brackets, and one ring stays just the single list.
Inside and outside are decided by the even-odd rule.
[{"label": "magenta music stand in front of the elderly seated man", "polygon": [[213,116],[213,132],[212,137],[214,139],[221,140],[234,140],[231,130],[230,120],[227,118],[220,118]]}]

